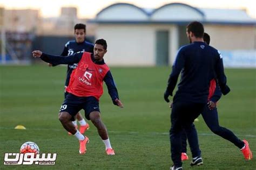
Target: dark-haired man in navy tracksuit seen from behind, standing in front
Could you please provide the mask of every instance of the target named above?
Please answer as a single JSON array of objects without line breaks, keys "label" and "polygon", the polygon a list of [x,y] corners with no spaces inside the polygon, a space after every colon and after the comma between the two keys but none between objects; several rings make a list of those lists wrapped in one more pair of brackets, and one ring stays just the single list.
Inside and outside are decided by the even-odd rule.
[{"label": "dark-haired man in navy tracksuit seen from behind, standing in front", "polygon": [[171,169],[183,169],[181,155],[181,133],[186,131],[188,143],[192,152],[192,164],[197,164],[201,159],[197,131],[193,127],[193,121],[204,110],[207,103],[210,80],[217,74],[221,92],[226,95],[230,89],[226,86],[226,76],[221,55],[217,49],[205,45],[203,40],[204,26],[199,22],[187,25],[187,37],[192,42],[190,45],[179,49],[176,61],[173,63],[167,88],[164,94],[166,102],[172,96],[173,90],[181,72],[178,90],[173,97],[171,112]]}]

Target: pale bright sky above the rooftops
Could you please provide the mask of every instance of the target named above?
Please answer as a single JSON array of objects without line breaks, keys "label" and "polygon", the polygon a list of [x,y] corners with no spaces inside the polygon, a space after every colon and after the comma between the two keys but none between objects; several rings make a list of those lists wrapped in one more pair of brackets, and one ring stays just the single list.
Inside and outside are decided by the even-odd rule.
[{"label": "pale bright sky above the rooftops", "polygon": [[76,7],[79,18],[94,18],[103,8],[114,3],[130,3],[140,8],[159,8],[168,3],[185,3],[196,8],[245,9],[256,18],[255,0],[0,0],[0,6],[6,9],[38,9],[42,17],[58,17],[61,7]]}]

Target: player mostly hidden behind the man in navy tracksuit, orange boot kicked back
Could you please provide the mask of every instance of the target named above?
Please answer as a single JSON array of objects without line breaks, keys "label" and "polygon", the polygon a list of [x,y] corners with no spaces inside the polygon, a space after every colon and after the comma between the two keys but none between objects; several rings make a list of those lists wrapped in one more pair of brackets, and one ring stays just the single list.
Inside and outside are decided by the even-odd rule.
[{"label": "player mostly hidden behind the man in navy tracksuit, orange boot kicked back", "polygon": [[[204,41],[207,45],[210,44],[210,36],[207,33],[204,33]],[[232,131],[224,127],[221,127],[219,125],[218,111],[216,108],[216,104],[221,97],[221,91],[219,89],[218,82],[216,82],[214,79],[211,82],[213,83],[211,83],[211,86],[210,86],[210,93],[208,96],[209,100],[207,105],[205,106],[204,111],[201,113],[206,125],[213,133],[217,134],[220,137],[223,137],[224,139],[230,141],[235,146],[240,148],[246,160],[252,159],[252,152],[250,150],[248,142],[246,140],[243,140],[243,141],[240,140],[237,136],[235,136],[235,134]],[[183,131],[181,139],[182,139],[181,160],[187,160],[188,159],[186,154],[187,137],[186,137],[185,131]]]}]

